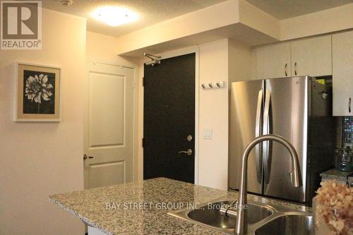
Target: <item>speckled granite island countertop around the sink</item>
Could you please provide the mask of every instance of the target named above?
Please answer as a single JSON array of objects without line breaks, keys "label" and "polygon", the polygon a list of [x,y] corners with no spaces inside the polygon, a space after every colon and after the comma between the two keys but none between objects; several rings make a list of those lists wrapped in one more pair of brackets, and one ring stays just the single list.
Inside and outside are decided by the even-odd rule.
[{"label": "speckled granite island countertop around the sink", "polygon": [[[237,193],[156,178],[49,195],[49,200],[105,234],[222,234],[167,215],[170,208],[206,203]],[[249,200],[310,211],[310,207],[248,195]]]}]

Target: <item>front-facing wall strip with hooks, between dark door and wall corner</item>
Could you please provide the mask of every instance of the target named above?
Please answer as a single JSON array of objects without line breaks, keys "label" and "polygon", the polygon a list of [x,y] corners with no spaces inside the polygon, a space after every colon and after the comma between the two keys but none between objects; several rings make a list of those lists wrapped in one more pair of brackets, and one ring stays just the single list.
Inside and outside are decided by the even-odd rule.
[{"label": "front-facing wall strip with hooks, between dark door and wall corner", "polygon": [[[226,88],[200,90],[198,183],[227,189],[228,179],[228,40],[200,45],[200,83],[224,80]],[[212,128],[212,139],[203,139]]]}]

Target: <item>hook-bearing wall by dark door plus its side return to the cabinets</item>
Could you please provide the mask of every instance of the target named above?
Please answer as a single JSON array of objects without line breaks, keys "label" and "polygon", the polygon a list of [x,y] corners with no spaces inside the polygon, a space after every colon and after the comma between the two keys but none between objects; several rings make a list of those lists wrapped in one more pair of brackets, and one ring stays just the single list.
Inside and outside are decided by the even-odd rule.
[{"label": "hook-bearing wall by dark door plus its side return to the cabinets", "polygon": [[[200,45],[200,83],[225,80],[227,85],[200,90],[200,185],[227,190],[230,83],[251,80],[251,61],[251,47],[234,40]],[[203,139],[204,128],[212,128],[212,140]]]}]

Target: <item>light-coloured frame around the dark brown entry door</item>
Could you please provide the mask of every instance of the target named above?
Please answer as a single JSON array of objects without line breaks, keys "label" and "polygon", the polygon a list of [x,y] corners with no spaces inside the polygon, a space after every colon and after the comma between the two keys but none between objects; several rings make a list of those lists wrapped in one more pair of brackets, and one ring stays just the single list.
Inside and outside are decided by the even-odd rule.
[{"label": "light-coloured frame around the dark brown entry door", "polygon": [[[194,183],[196,185],[198,185],[198,147],[199,147],[199,100],[200,100],[200,91],[199,91],[199,87],[200,87],[200,77],[199,77],[199,71],[200,71],[200,66],[199,66],[199,47],[198,46],[194,46],[194,47],[186,47],[183,49],[177,49],[177,50],[173,50],[171,52],[163,52],[160,54],[157,54],[157,56],[161,56],[160,59],[168,59],[168,58],[172,58],[172,57],[176,57],[176,56],[183,56],[186,54],[191,54],[191,53],[195,53],[195,150],[194,150],[194,159],[195,159],[195,169],[194,169],[194,174],[195,174],[195,181]],[[153,54],[153,53],[152,53]],[[141,75],[142,78],[144,76],[144,71],[143,71],[143,64],[145,62],[149,61],[148,59],[143,59],[141,62]],[[142,80],[142,79],[141,79]],[[143,138],[143,107],[144,107],[144,96],[143,96],[143,84],[142,81],[140,83],[140,88],[141,88],[141,107],[140,107],[140,112],[141,112],[141,122],[140,122],[140,126],[141,126],[141,138]],[[141,174],[138,177],[139,181],[143,181],[143,147],[142,147],[142,140],[141,140],[141,145],[140,145],[140,151],[141,151],[141,159],[139,161],[140,164],[140,171]]]}]

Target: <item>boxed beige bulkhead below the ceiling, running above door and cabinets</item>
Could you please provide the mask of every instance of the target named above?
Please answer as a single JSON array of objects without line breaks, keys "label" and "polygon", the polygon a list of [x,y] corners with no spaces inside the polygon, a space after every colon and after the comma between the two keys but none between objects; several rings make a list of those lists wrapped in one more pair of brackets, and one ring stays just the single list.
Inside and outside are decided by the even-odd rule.
[{"label": "boxed beige bulkhead below the ceiling, running above door and cabinets", "polygon": [[139,56],[226,37],[258,46],[352,28],[353,4],[278,20],[248,1],[227,0],[123,35],[115,52]]}]

